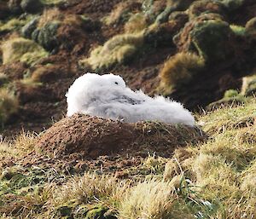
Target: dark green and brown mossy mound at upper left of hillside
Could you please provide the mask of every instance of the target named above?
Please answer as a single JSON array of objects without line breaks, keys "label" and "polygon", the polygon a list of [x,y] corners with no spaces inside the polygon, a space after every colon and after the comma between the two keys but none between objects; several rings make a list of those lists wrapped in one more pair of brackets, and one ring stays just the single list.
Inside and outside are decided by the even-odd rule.
[{"label": "dark green and brown mossy mound at upper left of hillside", "polygon": [[26,23],[21,29],[21,34],[34,40],[44,49],[56,53],[58,49],[72,51],[86,44],[86,33],[99,27],[98,20],[76,14],[63,16],[61,11],[55,8],[45,10],[44,14]]}]

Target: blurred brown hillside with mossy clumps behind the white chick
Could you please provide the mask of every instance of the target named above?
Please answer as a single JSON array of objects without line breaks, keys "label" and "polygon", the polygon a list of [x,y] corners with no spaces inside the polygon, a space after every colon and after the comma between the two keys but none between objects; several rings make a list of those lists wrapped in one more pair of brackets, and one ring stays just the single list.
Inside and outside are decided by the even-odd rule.
[{"label": "blurred brown hillside with mossy clumps behind the white chick", "polygon": [[131,89],[194,110],[228,89],[251,95],[255,8],[253,0],[1,0],[3,135],[62,118],[64,95],[84,72],[119,74]]}]

